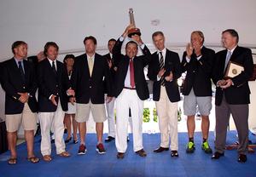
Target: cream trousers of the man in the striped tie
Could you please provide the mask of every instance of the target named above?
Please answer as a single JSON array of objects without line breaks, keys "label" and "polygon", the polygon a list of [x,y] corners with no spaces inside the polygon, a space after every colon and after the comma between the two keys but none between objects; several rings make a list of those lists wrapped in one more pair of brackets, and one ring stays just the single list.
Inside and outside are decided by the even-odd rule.
[{"label": "cream trousers of the man in the striped tie", "polygon": [[171,102],[166,93],[166,88],[160,88],[160,100],[155,101],[159,117],[161,147],[169,147],[171,137],[171,150],[177,151],[177,102]]}]

